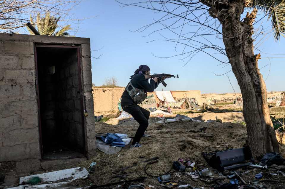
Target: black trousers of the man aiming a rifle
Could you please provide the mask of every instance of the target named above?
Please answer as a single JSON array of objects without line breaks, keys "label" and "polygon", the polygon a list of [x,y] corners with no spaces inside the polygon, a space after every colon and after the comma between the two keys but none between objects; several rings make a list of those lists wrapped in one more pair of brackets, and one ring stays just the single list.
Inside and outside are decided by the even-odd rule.
[{"label": "black trousers of the man aiming a rifle", "polygon": [[134,145],[136,142],[140,142],[145,130],[148,128],[148,118],[150,113],[148,110],[132,103],[121,102],[121,105],[123,110],[131,114],[140,124],[136,134],[134,135],[134,140],[132,142],[132,145]]}]

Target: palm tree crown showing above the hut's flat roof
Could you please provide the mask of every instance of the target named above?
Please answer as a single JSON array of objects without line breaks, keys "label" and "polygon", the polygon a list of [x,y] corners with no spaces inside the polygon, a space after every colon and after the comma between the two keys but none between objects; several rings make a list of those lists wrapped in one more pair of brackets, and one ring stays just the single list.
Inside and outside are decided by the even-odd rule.
[{"label": "palm tree crown showing above the hut's flat roof", "polygon": [[[47,36],[69,36],[68,30],[71,29],[71,25],[66,25],[62,27],[60,30],[56,31],[58,28],[58,21],[60,17],[56,18],[50,16],[49,12],[46,12],[45,16],[41,17],[40,13],[37,14],[37,20],[35,25],[37,25],[37,29],[41,35]],[[33,18],[30,17],[31,24],[34,25]],[[29,32],[34,35],[34,33],[28,28]]]}]

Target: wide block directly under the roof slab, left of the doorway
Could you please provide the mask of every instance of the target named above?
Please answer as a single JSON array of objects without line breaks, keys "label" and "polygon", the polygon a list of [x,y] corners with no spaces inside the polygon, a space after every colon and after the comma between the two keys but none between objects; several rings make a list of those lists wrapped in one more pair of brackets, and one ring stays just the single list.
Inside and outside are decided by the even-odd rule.
[{"label": "wide block directly under the roof slab, left of the doorway", "polygon": [[28,41],[4,41],[3,54],[34,55],[34,43]]}]

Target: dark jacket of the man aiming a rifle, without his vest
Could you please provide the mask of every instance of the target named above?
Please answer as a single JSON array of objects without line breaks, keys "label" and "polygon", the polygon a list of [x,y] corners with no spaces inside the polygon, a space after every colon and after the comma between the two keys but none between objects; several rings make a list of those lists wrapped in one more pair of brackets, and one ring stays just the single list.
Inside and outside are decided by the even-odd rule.
[{"label": "dark jacket of the man aiming a rifle, without his vest", "polygon": [[[132,85],[138,89],[144,89],[145,92],[153,92],[154,89],[157,88],[159,83],[156,83],[151,79],[150,83],[148,83],[148,79],[145,79],[143,74],[136,74],[132,78]],[[132,86],[129,86],[129,90],[132,89]],[[133,99],[130,97],[129,93],[125,90],[122,95],[121,102],[128,102],[135,104]]]}]

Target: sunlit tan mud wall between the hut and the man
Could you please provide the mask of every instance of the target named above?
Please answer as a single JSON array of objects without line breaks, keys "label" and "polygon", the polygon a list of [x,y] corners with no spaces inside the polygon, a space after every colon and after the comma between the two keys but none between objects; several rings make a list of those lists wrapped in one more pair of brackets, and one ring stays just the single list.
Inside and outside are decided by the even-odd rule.
[{"label": "sunlit tan mud wall between the hut and the man", "polygon": [[[98,88],[93,87],[94,114],[99,116],[102,114],[112,114],[118,112],[118,100],[121,98],[124,87],[115,88]],[[114,108],[115,107],[115,108]],[[114,108],[112,110],[112,108]]]}]

